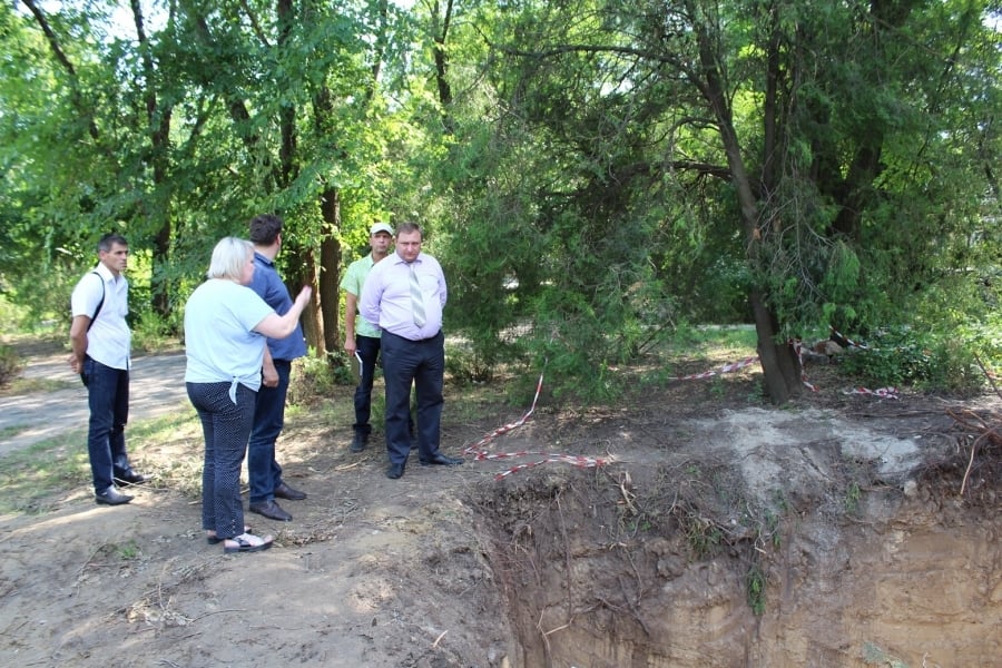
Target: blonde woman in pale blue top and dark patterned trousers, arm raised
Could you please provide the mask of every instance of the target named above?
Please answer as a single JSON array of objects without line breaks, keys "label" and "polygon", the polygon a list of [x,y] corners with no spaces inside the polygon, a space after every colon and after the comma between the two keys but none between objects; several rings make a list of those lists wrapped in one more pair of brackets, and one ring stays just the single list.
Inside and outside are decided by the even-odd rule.
[{"label": "blonde woman in pale blue top and dark patterned trousers, arm raised", "polygon": [[202,473],[202,527],[224,552],[256,552],[272,537],[249,533],[244,524],[239,477],[261,387],[266,337],[293,332],[310,302],[304,287],[285,315],[276,314],[253,289],[254,247],[226,237],[213,249],[208,281],[185,305],[185,384],[205,434]]}]

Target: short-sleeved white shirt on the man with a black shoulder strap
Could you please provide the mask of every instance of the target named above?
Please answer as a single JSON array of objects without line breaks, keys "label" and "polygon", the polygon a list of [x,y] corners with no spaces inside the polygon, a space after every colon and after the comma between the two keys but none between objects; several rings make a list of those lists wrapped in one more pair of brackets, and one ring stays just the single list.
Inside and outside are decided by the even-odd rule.
[{"label": "short-sleeved white shirt on the man with a black shoulder strap", "polygon": [[[105,302],[101,304],[102,291]],[[121,274],[116,277],[104,264],[98,264],[80,278],[70,297],[73,317],[94,317],[98,304],[101,304],[101,310],[87,332],[87,355],[105,366],[128,370],[132,346],[132,332],[126,322],[129,314],[129,282]]]}]

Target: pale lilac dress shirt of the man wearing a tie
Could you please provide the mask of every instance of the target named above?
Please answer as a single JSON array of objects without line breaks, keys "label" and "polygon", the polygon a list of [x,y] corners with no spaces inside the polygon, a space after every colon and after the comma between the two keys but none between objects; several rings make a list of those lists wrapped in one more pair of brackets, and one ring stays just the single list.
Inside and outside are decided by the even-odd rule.
[{"label": "pale lilac dress shirt of the man wearing a tie", "polygon": [[379,323],[386,332],[411,341],[421,341],[442,331],[442,308],[445,306],[448,291],[445,275],[438,259],[419,253],[413,264],[421,284],[425,317],[423,326],[414,324],[411,265],[399,253],[391,253],[372,267],[362,287],[358,312],[369,322]]}]

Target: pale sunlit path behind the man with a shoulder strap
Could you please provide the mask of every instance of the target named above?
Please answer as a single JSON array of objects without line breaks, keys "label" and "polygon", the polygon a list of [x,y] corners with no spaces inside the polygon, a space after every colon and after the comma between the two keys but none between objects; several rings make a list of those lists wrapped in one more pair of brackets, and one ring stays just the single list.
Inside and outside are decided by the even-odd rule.
[{"label": "pale sunlit path behind the man with a shoulder strap", "polygon": [[[84,430],[86,440],[87,390],[67,363],[67,353],[30,355],[22,375],[27,379],[59,381],[68,389],[35,392],[20,396],[0,396],[0,458],[39,441],[72,430]],[[144,355],[132,358],[129,379],[129,421],[159,418],[187,403],[183,352]]]}]

